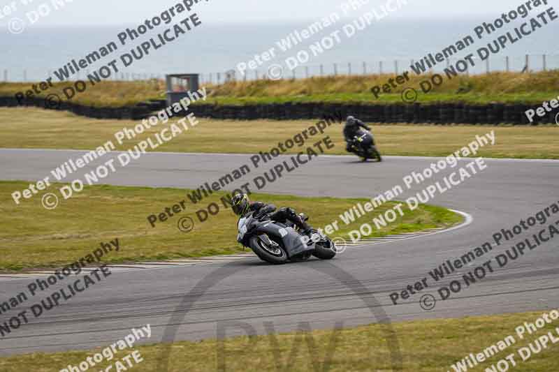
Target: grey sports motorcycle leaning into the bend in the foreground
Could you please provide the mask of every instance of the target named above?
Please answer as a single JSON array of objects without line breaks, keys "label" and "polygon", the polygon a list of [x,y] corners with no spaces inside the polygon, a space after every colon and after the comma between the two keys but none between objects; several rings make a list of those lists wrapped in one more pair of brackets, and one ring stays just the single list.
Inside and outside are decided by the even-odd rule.
[{"label": "grey sports motorcycle leaning into the bend in the foreground", "polygon": [[[305,261],[311,255],[321,260],[330,260],[336,255],[335,244],[326,235],[315,232],[312,237],[307,237],[291,223],[261,221],[253,214],[239,219],[237,241],[252,249],[263,261],[283,264]],[[299,216],[303,221],[308,220],[305,214]]]}]

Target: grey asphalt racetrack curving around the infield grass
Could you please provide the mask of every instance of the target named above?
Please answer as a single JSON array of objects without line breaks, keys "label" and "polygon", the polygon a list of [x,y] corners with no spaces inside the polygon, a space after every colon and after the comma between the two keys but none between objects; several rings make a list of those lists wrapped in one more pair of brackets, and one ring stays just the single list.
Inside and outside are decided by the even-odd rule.
[{"label": "grey asphalt racetrack curving around the infield grass", "polygon": [[[1,149],[1,178],[38,180],[83,152]],[[277,158],[275,163],[281,160]],[[383,163],[360,163],[354,156],[320,156],[260,192],[372,198],[396,184],[402,185],[402,177],[412,171],[421,172],[434,160],[386,156]],[[460,165],[470,161],[460,161]],[[248,162],[248,155],[145,154],[126,168],[118,169],[104,183],[196,188]],[[259,170],[268,170],[275,163],[263,165]],[[85,170],[92,169],[94,164]],[[216,262],[114,272],[102,284],[94,285],[41,318],[31,319],[28,325],[2,338],[0,355],[105,346],[129,333],[131,327],[147,323],[153,332],[148,342],[155,343],[162,340],[168,323],[171,325],[167,337],[198,340],[215,338],[217,329],[224,329],[218,327],[218,322],[223,326],[227,321],[241,322],[236,326],[227,323],[226,335],[233,336],[252,329],[259,333],[270,331],[264,322],[273,322],[275,332],[286,332],[298,329],[300,322],[310,322],[313,329],[321,329],[333,328],[340,322],[343,327],[349,327],[386,320],[559,308],[557,237],[534,251],[526,251],[505,267],[496,267],[486,278],[445,301],[437,293],[441,285],[461,278],[546,225],[555,224],[558,214],[545,225],[538,224],[495,247],[472,262],[471,267],[442,279],[440,285],[400,300],[397,305],[391,301],[391,292],[428,277],[428,272],[442,262],[458,258],[485,241],[493,241],[495,232],[512,229],[522,219],[559,202],[558,161],[486,159],[486,165],[483,172],[442,195],[437,193],[430,200],[430,204],[472,216],[471,223],[460,228],[416,239],[350,247],[329,262],[310,260],[273,267],[254,257],[226,265]],[[449,173],[437,174],[398,199],[405,200]],[[249,178],[256,175],[254,172]],[[157,191],[154,193],[157,198]],[[146,211],[149,210],[150,206],[146,206]],[[312,223],[312,211],[307,212]],[[56,213],[52,211],[53,216]],[[231,223],[235,221],[231,215]],[[0,298],[13,296],[28,282],[2,281]],[[430,278],[429,283],[433,283]],[[420,306],[420,299],[426,294],[438,299],[430,311]],[[14,310],[13,314],[3,314],[2,318],[15,313]]]}]

